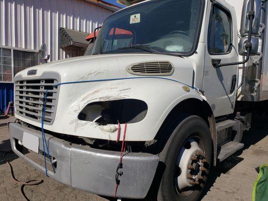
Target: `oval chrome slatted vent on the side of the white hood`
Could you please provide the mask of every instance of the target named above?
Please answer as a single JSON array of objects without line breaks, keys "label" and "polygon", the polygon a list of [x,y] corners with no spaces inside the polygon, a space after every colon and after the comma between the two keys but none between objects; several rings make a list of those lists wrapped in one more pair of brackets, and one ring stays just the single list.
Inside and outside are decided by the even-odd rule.
[{"label": "oval chrome slatted vent on the side of the white hood", "polygon": [[174,72],[174,66],[169,61],[152,61],[131,65],[127,71],[134,75],[171,75]]}]

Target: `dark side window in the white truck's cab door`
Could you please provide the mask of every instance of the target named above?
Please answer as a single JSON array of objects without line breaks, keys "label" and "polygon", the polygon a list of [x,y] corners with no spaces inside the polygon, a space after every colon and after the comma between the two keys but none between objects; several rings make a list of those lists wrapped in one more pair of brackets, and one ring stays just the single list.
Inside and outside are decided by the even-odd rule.
[{"label": "dark side window in the white truck's cab door", "polygon": [[230,13],[213,6],[209,23],[208,50],[210,54],[226,54],[232,48],[232,20]]}]

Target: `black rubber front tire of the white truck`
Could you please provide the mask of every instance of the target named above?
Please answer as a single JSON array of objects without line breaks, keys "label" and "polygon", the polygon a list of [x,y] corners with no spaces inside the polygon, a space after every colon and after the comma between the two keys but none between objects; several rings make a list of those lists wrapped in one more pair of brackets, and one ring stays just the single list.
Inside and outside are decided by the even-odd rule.
[{"label": "black rubber front tire of the white truck", "polygon": [[[166,140],[163,140],[163,142],[166,143],[162,145],[163,148],[161,148],[161,152],[159,154],[160,166],[158,166],[158,172],[156,172],[150,192],[145,199],[156,200],[157,198],[158,201],[199,200],[208,178],[213,156],[213,144],[207,123],[198,116],[184,115],[181,116],[179,120],[176,120],[176,122],[167,126],[166,129],[162,129],[160,135],[165,136],[165,138],[166,136],[169,137],[167,137]],[[192,138],[201,140],[200,143],[203,145],[202,151],[204,151],[205,158],[207,160],[207,163],[204,166],[206,166],[207,170],[203,174],[205,176],[202,183],[200,185],[195,185],[192,189],[190,189],[190,191],[187,191],[191,193],[186,196],[187,193],[178,192],[175,186],[175,164],[180,150],[183,146],[185,146],[185,143]]]}]

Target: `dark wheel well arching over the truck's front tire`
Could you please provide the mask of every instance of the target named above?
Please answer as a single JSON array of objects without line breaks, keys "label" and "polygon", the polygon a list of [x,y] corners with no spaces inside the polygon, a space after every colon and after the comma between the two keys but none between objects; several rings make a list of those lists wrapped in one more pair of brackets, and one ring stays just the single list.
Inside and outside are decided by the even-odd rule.
[{"label": "dark wheel well arching over the truck's front tire", "polygon": [[[155,141],[159,140],[167,140],[169,136],[159,136],[162,134],[162,131],[167,127],[170,127],[170,123],[176,122],[177,119],[182,118],[182,114],[185,115],[196,115],[204,119],[204,121],[208,124],[210,129],[211,138],[213,141],[213,149],[214,149],[214,164],[216,162],[216,152],[217,152],[217,133],[216,133],[216,124],[213,112],[209,106],[209,104],[205,100],[199,100],[196,98],[189,98],[183,100],[181,103],[177,104],[171,112],[168,114],[163,124],[161,125],[156,137]],[[180,120],[178,120],[180,121]],[[177,124],[173,125],[176,126]],[[154,142],[155,143],[155,142]],[[159,151],[159,150],[158,150]]]}]

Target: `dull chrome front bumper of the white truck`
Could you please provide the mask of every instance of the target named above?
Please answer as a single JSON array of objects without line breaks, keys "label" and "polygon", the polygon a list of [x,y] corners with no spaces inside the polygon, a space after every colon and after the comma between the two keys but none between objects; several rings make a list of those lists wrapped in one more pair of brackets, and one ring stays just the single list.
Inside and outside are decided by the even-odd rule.
[{"label": "dull chrome front bumper of the white truck", "polygon": [[[39,150],[43,151],[41,132],[18,123],[10,123],[9,130],[13,151],[45,173],[44,167],[16,148],[16,140],[23,141],[23,133],[27,132],[39,138]],[[45,135],[50,155],[57,161],[56,173],[48,171],[49,177],[83,191],[114,196],[120,152],[93,149]],[[124,155],[117,196],[144,198],[151,186],[158,161],[158,156],[148,153]]]}]

